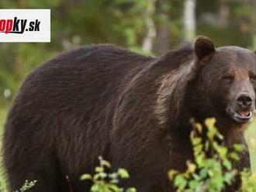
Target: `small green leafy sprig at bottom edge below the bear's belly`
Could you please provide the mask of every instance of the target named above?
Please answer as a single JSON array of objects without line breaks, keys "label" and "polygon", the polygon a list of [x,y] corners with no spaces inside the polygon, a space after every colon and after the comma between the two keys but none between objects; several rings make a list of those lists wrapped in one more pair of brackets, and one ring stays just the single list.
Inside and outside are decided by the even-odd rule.
[{"label": "small green leafy sprig at bottom edge below the bear's belly", "polygon": [[99,157],[99,166],[95,167],[95,174],[83,174],[81,180],[91,180],[92,181],[92,192],[136,192],[136,189],[133,187],[127,188],[124,190],[119,187],[119,179],[128,179],[129,173],[123,169],[119,168],[114,173],[107,173],[107,170],[111,168],[111,165],[108,161]]}]

